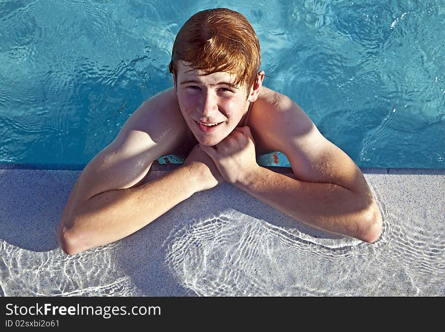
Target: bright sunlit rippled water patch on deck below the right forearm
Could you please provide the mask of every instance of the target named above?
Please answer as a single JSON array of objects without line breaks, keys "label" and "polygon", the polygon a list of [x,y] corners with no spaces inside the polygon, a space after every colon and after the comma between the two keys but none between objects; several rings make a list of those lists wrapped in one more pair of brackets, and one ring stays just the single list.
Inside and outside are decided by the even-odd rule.
[{"label": "bright sunlit rippled water patch on deck below the right forearm", "polygon": [[202,296],[331,295],[326,279],[350,282],[348,264],[375,254],[360,241],[315,239],[236,213],[174,230],[164,246],[165,264]]}]

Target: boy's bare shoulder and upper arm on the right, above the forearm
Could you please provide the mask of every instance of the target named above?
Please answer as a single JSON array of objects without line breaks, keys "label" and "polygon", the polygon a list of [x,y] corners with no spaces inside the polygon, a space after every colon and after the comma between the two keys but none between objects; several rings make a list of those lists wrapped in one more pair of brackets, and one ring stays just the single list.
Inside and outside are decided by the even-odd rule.
[{"label": "boy's bare shoulder and upper arm on the right, above the forearm", "polygon": [[272,89],[262,89],[255,102],[258,111],[252,127],[270,150],[286,155],[296,179],[335,183],[351,191],[369,193],[358,166],[320,133],[296,102]]}]

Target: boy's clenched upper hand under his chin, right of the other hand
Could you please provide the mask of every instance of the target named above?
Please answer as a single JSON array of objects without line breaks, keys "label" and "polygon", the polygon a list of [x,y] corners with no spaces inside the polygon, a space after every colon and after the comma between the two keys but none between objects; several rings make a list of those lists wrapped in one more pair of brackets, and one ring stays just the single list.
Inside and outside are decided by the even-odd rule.
[{"label": "boy's clenched upper hand under his chin, right of the other hand", "polygon": [[212,158],[219,173],[229,183],[243,183],[259,168],[255,141],[247,126],[236,127],[214,147],[201,144],[200,147]]}]

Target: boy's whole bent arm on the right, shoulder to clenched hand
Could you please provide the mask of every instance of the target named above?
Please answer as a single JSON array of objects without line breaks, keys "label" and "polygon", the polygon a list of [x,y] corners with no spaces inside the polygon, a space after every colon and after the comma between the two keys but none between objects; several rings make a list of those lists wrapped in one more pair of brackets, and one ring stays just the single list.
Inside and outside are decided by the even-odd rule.
[{"label": "boy's whole bent arm on the right, shoulder to clenched hand", "polygon": [[[252,132],[289,159],[293,177],[259,167],[249,127],[235,128],[217,149],[202,147],[222,176],[275,209],[322,230],[377,240],[382,216],[360,169],[318,131],[289,98],[272,90],[257,100]],[[270,91],[270,92],[269,92]]]}]

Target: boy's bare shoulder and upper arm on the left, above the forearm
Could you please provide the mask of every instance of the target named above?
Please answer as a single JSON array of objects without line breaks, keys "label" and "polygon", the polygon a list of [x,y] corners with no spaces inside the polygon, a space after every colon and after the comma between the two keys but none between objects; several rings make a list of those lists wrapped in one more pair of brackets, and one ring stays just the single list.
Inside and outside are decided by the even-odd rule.
[{"label": "boy's bare shoulder and upper arm on the left, above the forearm", "polygon": [[83,169],[68,205],[141,185],[153,161],[181,143],[184,120],[171,94],[170,89],[156,94],[128,118],[116,138]]}]

